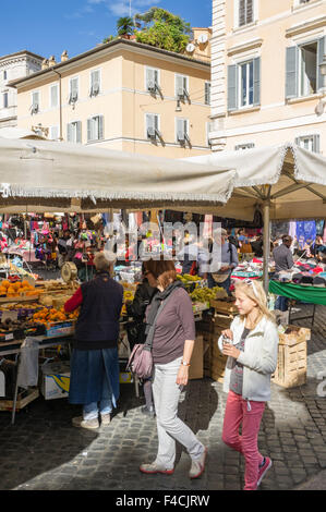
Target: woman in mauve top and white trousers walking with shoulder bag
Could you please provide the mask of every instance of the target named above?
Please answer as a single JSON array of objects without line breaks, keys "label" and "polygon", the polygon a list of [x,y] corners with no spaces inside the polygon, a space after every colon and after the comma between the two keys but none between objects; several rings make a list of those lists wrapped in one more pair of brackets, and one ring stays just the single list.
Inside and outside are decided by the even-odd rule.
[{"label": "woman in mauve top and white trousers walking with shoulder bag", "polygon": [[174,471],[178,441],[185,447],[192,460],[190,478],[197,478],[205,470],[207,450],[178,417],[180,393],[189,380],[195,340],[192,302],[177,280],[172,260],[149,259],[144,265],[149,285],[158,289],[146,310],[146,331],[148,336],[153,336],[153,395],[158,451],[155,461],[142,464],[140,471],[145,474],[171,475]]}]

